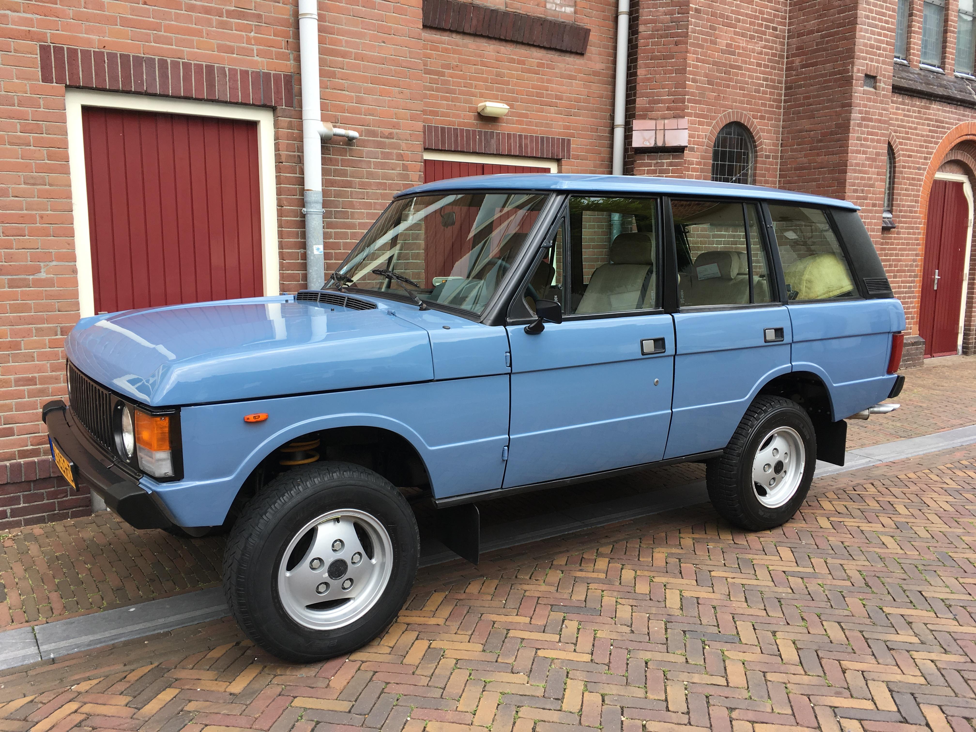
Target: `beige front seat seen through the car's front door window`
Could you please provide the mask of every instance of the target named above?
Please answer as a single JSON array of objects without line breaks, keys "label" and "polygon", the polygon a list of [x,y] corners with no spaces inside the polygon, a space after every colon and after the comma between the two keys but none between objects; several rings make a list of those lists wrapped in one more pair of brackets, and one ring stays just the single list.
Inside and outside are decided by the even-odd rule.
[{"label": "beige front seat seen through the car's front door window", "polygon": [[590,277],[578,314],[619,312],[654,306],[654,237],[643,231],[617,234],[610,262]]}]

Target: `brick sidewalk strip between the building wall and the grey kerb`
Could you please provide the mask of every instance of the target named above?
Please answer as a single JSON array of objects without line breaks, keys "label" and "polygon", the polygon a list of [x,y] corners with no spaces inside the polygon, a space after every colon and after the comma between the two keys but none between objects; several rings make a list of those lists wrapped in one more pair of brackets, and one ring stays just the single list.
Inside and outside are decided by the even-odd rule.
[{"label": "brick sidewalk strip between the building wall and the grey kerb", "polygon": [[[930,359],[907,372],[900,410],[848,423],[850,448],[976,424],[976,358]],[[483,525],[662,490],[705,478],[704,466],[655,468],[557,492],[482,504]],[[422,524],[432,511],[417,507]],[[575,536],[575,535],[574,535]],[[0,629],[36,625],[216,587],[224,540],[182,540],[164,531],[137,531],[110,513],[31,526],[2,538]]]}]

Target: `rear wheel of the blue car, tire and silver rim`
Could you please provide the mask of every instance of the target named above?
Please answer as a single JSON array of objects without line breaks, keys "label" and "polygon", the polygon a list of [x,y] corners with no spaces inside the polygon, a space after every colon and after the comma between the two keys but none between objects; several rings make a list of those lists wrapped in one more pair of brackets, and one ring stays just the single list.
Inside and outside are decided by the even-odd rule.
[{"label": "rear wheel of the blue car, tire and silver rim", "polygon": [[780,396],[758,396],[722,457],[708,463],[712,506],[750,531],[780,526],[806,499],[816,462],[817,436],[803,408]]}]

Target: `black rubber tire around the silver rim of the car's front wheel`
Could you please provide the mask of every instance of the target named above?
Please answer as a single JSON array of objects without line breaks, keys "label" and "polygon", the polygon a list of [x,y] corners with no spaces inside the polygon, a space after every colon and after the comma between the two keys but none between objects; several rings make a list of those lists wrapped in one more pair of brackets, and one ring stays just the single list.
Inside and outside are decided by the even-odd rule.
[{"label": "black rubber tire around the silver rim of the car's front wheel", "polygon": [[[303,527],[316,517],[346,510],[368,514],[386,530],[390,549],[388,580],[382,590],[377,590],[381,593],[365,615],[341,628],[317,630],[296,620],[286,609],[288,588],[283,589],[283,601],[279,569],[282,562],[287,568],[297,554],[312,551],[308,545],[301,549],[303,540],[299,540],[290,552],[291,558],[284,556],[300,531],[305,531],[306,537],[312,533],[317,537],[320,527],[330,526],[331,519],[314,529]],[[357,527],[357,534],[359,530]],[[366,543],[364,551],[372,559],[365,547]],[[310,553],[303,554],[302,561],[308,556]],[[325,560],[330,561],[330,557]],[[320,462],[279,475],[243,509],[224,551],[224,594],[231,614],[251,640],[282,660],[313,663],[354,651],[386,629],[413,587],[419,560],[417,521],[406,500],[388,480],[350,463]],[[355,561],[354,555],[351,561]],[[316,563],[316,559],[311,562]],[[343,566],[348,565],[343,562]],[[325,569],[321,563],[315,568],[320,567]],[[294,565],[294,569],[305,572],[305,564]],[[337,583],[338,580],[333,584]],[[339,600],[339,604],[349,601]],[[289,606],[296,607],[294,601]],[[309,605],[307,609],[313,607]]]}]

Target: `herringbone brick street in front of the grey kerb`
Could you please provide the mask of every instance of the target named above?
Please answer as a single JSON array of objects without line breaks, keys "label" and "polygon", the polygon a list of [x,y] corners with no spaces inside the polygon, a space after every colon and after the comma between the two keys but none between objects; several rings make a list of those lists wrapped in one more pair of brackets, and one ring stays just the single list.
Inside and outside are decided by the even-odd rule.
[{"label": "herringbone brick street in front of the grey kerb", "polygon": [[[0,730],[971,732],[976,449],[422,571],[384,636],[290,666],[229,620],[0,675]],[[446,571],[445,571],[446,570]]]}]

